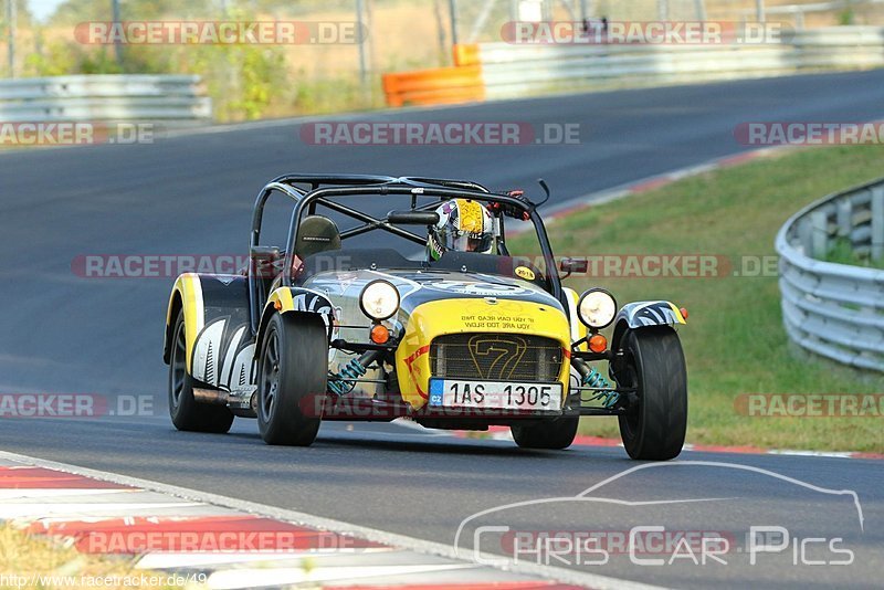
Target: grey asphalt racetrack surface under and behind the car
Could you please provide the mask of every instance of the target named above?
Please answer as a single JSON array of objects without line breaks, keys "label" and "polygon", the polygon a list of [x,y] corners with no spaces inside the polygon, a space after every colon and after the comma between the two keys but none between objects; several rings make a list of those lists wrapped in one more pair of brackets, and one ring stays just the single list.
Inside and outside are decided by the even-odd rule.
[{"label": "grey asphalt racetrack surface under and behind the car", "polygon": [[[96,393],[110,409],[128,397],[150,401],[137,417],[3,419],[0,449],[448,545],[460,527],[465,551],[477,541],[512,557],[519,535],[594,531],[604,554],[575,559],[570,551],[545,563],[646,583],[878,587],[881,462],[685,452],[681,463],[622,474],[643,465],[622,449],[528,452],[396,423],[329,423],[309,449],[265,446],[249,420],[229,435],[176,432],[161,361],[172,278],[88,278],[72,262],[86,254],[244,255],[254,197],[284,172],[457,177],[492,189],[534,189],[543,177],[555,207],[751,149],[734,138],[740,123],[882,115],[884,72],[867,72],[347,117],[577,123],[579,145],[313,146],[299,137],[302,123],[290,120],[152,145],[0,154],[0,391]],[[543,498],[557,499],[532,502]],[[482,526],[508,527],[509,536],[476,534]],[[623,535],[650,526],[724,538],[728,548],[716,556],[725,562],[708,555],[699,562],[695,545],[696,563],[654,547],[642,555],[619,548]],[[751,527],[767,537],[753,545]],[[789,538],[777,538],[777,527]],[[780,548],[760,552],[761,538]],[[634,562],[655,558],[664,563]]]}]

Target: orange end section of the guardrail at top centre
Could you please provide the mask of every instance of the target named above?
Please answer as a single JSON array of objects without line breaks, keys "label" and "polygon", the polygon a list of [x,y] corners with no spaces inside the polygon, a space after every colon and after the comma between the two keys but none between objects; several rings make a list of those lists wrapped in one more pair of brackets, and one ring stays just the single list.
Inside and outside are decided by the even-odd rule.
[{"label": "orange end section of the guardrail at top centre", "polygon": [[478,45],[455,45],[453,67],[383,74],[389,106],[439,105],[485,99]]}]

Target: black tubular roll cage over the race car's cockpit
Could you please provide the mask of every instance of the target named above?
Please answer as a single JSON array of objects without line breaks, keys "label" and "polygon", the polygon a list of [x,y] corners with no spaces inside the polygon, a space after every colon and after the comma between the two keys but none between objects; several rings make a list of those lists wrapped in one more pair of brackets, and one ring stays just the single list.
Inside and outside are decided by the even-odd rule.
[{"label": "black tubular roll cage over the race car's cockpit", "polygon": [[[306,185],[309,189],[299,187],[298,185]],[[255,199],[254,210],[252,213],[252,232],[249,242],[249,253],[252,255],[253,250],[260,246],[261,239],[261,223],[264,214],[264,206],[267,199],[274,192],[278,191],[288,196],[294,202],[294,210],[292,211],[292,220],[288,226],[288,238],[285,244],[285,259],[284,268],[292,267],[292,256],[294,255],[294,244],[297,243],[297,234],[301,226],[299,220],[304,212],[314,214],[317,206],[323,206],[332,211],[347,215],[356,221],[362,223],[341,232],[341,240],[368,233],[375,230],[383,230],[399,238],[403,238],[418,244],[425,244],[427,239],[413,232],[404,230],[398,225],[393,225],[386,219],[376,218],[368,213],[364,213],[352,207],[341,204],[336,201],[329,200],[333,197],[369,197],[369,196],[410,196],[411,209],[413,211],[433,211],[439,207],[438,202],[431,202],[418,207],[417,200],[420,197],[439,197],[440,200],[448,200],[452,198],[474,199],[477,201],[498,202],[515,210],[527,212],[528,219],[534,224],[535,232],[537,233],[540,243],[540,250],[544,256],[544,263],[547,267],[547,276],[551,287],[551,294],[558,301],[566,305],[561,291],[561,281],[558,275],[555,259],[552,256],[552,247],[549,244],[549,238],[546,233],[546,228],[537,213],[536,206],[530,200],[507,193],[492,192],[477,182],[466,180],[445,180],[433,178],[418,178],[418,177],[390,177],[390,176],[376,176],[376,175],[284,175],[274,178],[267,182],[261,192],[257,193]],[[501,232],[503,234],[503,218],[501,218]],[[250,310],[252,314],[252,325],[256,325],[256,318],[261,316],[260,301],[261,297],[257,293],[257,283],[252,272],[252,266],[249,265],[249,293],[250,293]],[[291,271],[284,271],[282,274],[283,286],[292,286]],[[566,305],[567,309],[567,305]]]}]

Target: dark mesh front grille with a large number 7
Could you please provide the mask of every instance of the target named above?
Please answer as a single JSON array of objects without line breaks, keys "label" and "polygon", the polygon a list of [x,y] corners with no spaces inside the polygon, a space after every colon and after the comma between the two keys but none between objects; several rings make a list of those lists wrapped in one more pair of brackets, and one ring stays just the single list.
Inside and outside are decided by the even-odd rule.
[{"label": "dark mesh front grille with a large number 7", "polygon": [[450,334],[433,339],[433,377],[488,381],[555,381],[561,345],[522,334]]}]

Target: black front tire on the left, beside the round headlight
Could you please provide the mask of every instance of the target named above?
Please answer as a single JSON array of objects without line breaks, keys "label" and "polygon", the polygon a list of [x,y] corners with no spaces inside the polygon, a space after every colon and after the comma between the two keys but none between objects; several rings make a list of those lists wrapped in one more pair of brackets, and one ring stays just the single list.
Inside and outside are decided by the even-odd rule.
[{"label": "black front tire on the left, beside the round headlight", "polygon": [[[257,428],[265,443],[313,444],[327,378],[325,324],[318,318],[274,314],[262,338],[257,373]],[[305,409],[311,411],[305,413]]]}]

